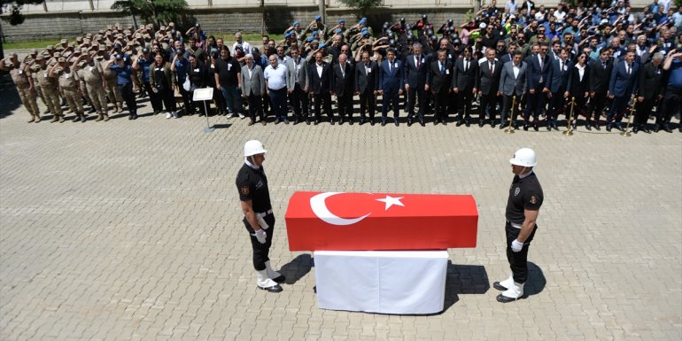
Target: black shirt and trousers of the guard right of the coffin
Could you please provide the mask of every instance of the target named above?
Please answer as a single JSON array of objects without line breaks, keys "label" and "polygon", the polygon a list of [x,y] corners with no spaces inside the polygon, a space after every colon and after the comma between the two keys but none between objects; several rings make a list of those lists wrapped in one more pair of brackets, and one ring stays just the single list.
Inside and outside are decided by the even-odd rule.
[{"label": "black shirt and trousers of the guard right of the coffin", "polygon": [[543,195],[542,187],[538,182],[535,173],[531,173],[523,179],[518,175],[514,176],[511,187],[509,187],[509,198],[507,201],[507,260],[509,267],[511,267],[512,274],[514,274],[515,283],[525,283],[528,278],[528,247],[535,236],[535,231],[538,229],[536,224],[533,227],[531,235],[523,243],[523,249],[520,252],[513,252],[511,249],[512,242],[519,236],[521,229],[519,228],[525,220],[523,210],[537,211],[542,205]]}]

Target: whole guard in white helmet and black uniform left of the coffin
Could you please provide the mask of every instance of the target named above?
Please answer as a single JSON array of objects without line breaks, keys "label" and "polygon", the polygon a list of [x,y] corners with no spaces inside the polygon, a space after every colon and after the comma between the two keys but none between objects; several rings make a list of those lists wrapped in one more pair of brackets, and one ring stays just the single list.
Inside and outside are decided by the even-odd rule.
[{"label": "whole guard in white helmet and black uniform left of the coffin", "polygon": [[275,215],[263,170],[266,152],[260,141],[244,144],[244,166],[236,174],[236,189],[244,212],[244,227],[251,236],[256,284],[262,290],[280,292],[282,286],[278,283],[283,283],[285,278],[273,270],[268,257],[275,232]]}]

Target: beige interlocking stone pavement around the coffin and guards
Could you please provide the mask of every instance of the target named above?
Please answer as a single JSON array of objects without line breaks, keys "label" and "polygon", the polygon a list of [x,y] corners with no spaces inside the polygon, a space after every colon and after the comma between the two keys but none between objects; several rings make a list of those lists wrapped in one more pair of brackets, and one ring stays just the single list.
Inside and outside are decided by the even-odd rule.
[{"label": "beige interlocking stone pavement around the coffin and guards", "polygon": [[[677,131],[567,137],[212,117],[219,128],[205,134],[197,116],[126,114],[27,124],[7,77],[0,88],[1,340],[682,338]],[[280,294],[255,288],[234,185],[252,138],[269,150],[272,259],[288,278]],[[539,154],[545,204],[529,297],[502,305],[492,282],[508,275],[508,159],[522,146]],[[295,190],[473,194],[478,244],[449,251],[445,311],[318,309],[312,253],[287,247]]]}]

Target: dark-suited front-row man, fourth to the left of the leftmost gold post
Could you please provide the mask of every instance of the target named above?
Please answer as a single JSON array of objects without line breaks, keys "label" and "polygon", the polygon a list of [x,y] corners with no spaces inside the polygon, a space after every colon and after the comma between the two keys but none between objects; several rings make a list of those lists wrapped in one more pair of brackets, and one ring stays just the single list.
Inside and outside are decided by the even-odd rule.
[{"label": "dark-suited front-row man, fourth to the left of the leftmost gold post", "polygon": [[426,106],[426,75],[429,73],[429,58],[422,54],[422,44],[412,45],[412,54],[405,58],[405,91],[407,91],[407,126],[412,125],[415,116],[415,103],[419,99],[419,124],[424,127],[424,107]]}]

